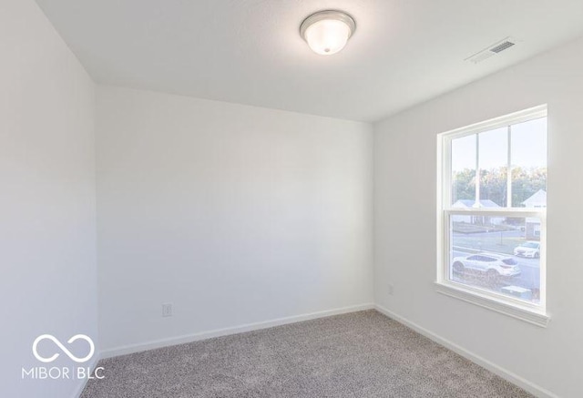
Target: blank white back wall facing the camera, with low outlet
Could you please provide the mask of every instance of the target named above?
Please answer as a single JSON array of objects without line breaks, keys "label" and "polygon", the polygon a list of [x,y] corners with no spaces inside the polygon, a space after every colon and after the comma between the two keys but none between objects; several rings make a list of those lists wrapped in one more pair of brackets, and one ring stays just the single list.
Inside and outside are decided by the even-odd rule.
[{"label": "blank white back wall facing the camera, with low outlet", "polygon": [[106,352],[373,301],[370,125],[97,93]]}]

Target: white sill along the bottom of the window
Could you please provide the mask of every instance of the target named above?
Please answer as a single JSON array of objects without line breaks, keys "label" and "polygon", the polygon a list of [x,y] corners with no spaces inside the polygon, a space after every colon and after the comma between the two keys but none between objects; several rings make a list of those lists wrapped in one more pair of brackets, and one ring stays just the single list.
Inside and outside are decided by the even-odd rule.
[{"label": "white sill along the bottom of the window", "polygon": [[518,303],[515,304],[506,302],[477,291],[471,291],[466,290],[463,287],[457,287],[447,282],[435,282],[435,290],[439,293],[445,294],[446,296],[470,302],[472,304],[479,305],[480,307],[500,312],[543,328],[547,327],[548,321],[550,320],[550,317],[547,313],[537,311],[535,308],[529,308],[527,305],[521,306]]}]

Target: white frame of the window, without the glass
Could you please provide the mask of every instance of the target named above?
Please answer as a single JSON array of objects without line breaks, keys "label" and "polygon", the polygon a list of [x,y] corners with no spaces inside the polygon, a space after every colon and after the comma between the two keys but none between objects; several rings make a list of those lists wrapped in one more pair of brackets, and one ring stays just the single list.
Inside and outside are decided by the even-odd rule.
[{"label": "white frame of the window, without the glass", "polygon": [[[493,210],[491,208],[454,209],[452,207],[452,140],[496,128],[516,125],[540,117],[547,117],[547,105],[531,107],[503,117],[496,117],[437,135],[437,273],[435,290],[447,296],[471,302],[537,326],[547,327],[550,320],[550,316],[547,313],[547,209],[503,207]],[[507,150],[511,150],[510,145],[508,145]],[[454,215],[533,217],[540,219],[540,299],[538,303],[523,301],[494,291],[487,291],[486,289],[450,280],[450,218]]]}]

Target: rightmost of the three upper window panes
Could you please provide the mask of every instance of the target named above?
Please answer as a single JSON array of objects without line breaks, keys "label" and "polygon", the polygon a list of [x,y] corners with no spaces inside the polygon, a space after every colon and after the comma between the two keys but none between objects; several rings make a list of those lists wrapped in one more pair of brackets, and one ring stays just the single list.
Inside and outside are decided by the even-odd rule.
[{"label": "rightmost of the three upper window panes", "polygon": [[547,117],[512,126],[512,203],[547,207]]}]

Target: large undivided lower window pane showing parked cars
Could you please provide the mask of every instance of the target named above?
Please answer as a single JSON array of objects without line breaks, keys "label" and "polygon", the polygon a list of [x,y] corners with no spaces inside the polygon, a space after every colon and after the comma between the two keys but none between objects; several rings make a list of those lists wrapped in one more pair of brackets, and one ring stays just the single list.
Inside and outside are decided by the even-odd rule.
[{"label": "large undivided lower window pane showing parked cars", "polygon": [[450,218],[450,281],[538,303],[540,219]]}]

